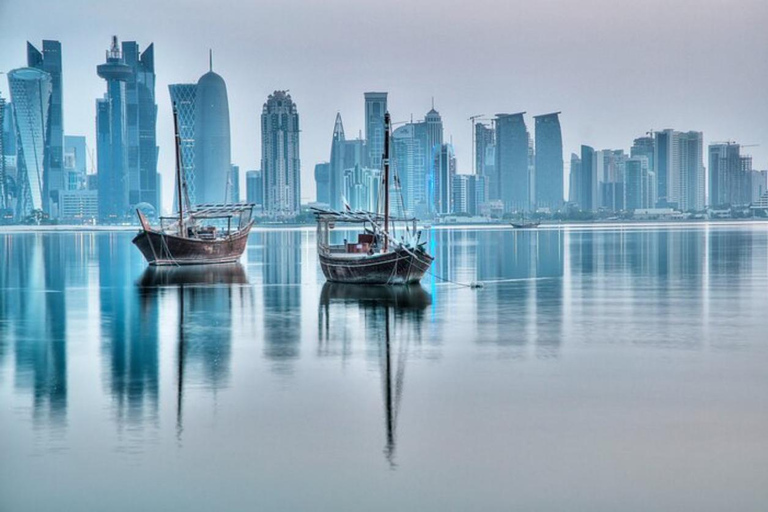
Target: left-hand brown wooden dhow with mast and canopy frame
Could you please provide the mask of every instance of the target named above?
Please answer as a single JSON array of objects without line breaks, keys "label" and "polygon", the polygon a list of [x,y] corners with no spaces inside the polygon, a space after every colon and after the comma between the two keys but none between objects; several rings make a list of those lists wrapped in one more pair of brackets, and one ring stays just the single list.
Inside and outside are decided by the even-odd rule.
[{"label": "left-hand brown wooden dhow with mast and canopy frame", "polygon": [[[141,231],[133,239],[150,265],[208,265],[233,263],[240,259],[253,226],[253,204],[204,204],[189,206],[186,181],[181,172],[181,148],[178,113],[173,106],[176,132],[176,184],[179,213],[160,217],[160,227],[153,228],[137,210]],[[186,198],[186,200],[185,200]]]}]

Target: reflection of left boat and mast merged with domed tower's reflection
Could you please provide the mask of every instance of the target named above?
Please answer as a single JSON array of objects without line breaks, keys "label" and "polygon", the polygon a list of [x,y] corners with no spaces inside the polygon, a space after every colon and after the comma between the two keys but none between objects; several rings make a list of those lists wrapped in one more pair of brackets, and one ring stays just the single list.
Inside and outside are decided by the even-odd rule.
[{"label": "reflection of left boat and mast merged with domed tower's reflection", "polygon": [[137,283],[143,307],[173,296],[178,308],[176,343],[177,434],[183,431],[184,390],[202,384],[216,391],[228,384],[232,314],[250,295],[239,263],[188,267],[147,267]]}]

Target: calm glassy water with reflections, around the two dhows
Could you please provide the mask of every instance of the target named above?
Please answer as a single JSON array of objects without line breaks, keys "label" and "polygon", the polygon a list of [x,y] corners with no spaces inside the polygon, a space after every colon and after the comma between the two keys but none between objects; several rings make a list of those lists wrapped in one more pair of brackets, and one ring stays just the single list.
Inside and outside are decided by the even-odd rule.
[{"label": "calm glassy water with reflections, around the two dhows", "polygon": [[768,225],[433,231],[480,290],[131,236],[0,234],[2,511],[768,509]]}]

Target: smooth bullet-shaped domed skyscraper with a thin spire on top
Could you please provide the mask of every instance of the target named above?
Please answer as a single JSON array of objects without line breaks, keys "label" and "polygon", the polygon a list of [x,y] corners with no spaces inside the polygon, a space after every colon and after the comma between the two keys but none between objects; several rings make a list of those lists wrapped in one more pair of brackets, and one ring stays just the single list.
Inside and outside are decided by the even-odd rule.
[{"label": "smooth bullet-shaped domed skyscraper with a thin spire on top", "polygon": [[197,202],[221,203],[232,163],[229,100],[227,85],[214,73],[212,62],[209,71],[197,81],[194,153]]}]

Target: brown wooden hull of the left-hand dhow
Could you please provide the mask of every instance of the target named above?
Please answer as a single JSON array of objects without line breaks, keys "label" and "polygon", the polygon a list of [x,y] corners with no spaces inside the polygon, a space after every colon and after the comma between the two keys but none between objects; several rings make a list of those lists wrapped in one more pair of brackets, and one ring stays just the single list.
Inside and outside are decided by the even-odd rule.
[{"label": "brown wooden hull of the left-hand dhow", "polygon": [[234,263],[248,243],[251,224],[233,237],[221,240],[182,238],[157,231],[142,230],[133,239],[147,263],[156,266],[211,265]]}]

